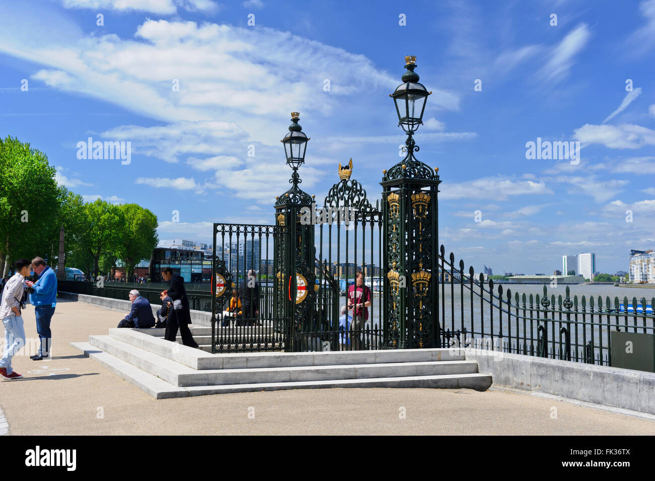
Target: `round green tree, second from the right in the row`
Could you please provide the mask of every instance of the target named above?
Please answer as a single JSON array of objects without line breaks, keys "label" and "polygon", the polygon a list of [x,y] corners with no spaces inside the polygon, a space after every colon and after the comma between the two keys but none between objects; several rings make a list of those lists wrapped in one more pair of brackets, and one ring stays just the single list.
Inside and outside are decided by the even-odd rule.
[{"label": "round green tree, second from the right in the row", "polygon": [[93,277],[98,276],[100,257],[116,249],[121,238],[124,218],[117,205],[104,200],[84,204],[80,244],[93,261]]}]

